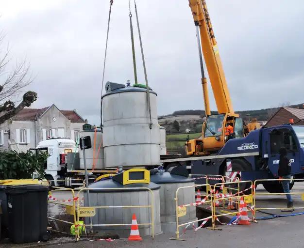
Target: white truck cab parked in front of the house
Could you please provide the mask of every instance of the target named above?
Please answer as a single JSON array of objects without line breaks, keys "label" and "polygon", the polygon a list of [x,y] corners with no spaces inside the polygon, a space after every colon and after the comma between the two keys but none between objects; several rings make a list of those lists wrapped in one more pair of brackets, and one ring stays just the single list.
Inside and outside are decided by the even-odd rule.
[{"label": "white truck cab parked in front of the house", "polygon": [[[46,151],[50,156],[45,165],[45,178],[49,181],[58,180],[67,172],[66,155],[71,152],[79,152],[74,140],[65,138],[51,138],[40,141],[37,148],[31,148],[37,152]],[[57,186],[58,183],[54,183]]]}]

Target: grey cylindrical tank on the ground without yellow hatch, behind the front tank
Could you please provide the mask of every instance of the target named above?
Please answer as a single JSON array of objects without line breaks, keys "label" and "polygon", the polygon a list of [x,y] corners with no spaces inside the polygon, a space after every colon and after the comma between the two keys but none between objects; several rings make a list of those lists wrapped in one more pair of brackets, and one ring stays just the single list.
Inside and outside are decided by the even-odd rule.
[{"label": "grey cylindrical tank on the ground without yellow hatch, behind the front tank", "polygon": [[[169,172],[151,175],[151,182],[160,186],[160,222],[164,233],[176,232],[176,205],[175,193],[179,187],[194,186],[194,180],[180,175],[172,175]],[[194,187],[182,188],[178,191],[178,205],[195,202]],[[179,224],[196,220],[195,207],[187,207],[186,215],[179,217]],[[197,223],[195,223],[197,225]],[[192,226],[191,226],[192,228]]]}]

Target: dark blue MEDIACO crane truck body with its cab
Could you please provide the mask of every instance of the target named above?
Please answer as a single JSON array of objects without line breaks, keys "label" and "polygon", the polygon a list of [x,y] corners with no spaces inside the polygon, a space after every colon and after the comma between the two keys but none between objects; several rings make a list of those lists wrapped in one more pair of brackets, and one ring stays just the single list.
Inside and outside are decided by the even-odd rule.
[{"label": "dark blue MEDIACO crane truck body with its cab", "polygon": [[[241,171],[241,180],[278,178],[279,149],[285,147],[291,161],[293,178],[304,178],[304,126],[283,124],[251,131],[244,138],[228,140],[216,154],[175,159],[162,159],[164,167],[182,165],[192,175],[225,175],[226,162],[232,161],[232,171]],[[193,176],[199,177],[199,176]],[[204,184],[197,179],[197,184]],[[212,182],[210,182],[212,183]],[[218,183],[218,182],[213,182]],[[294,182],[290,183],[290,189]],[[263,182],[270,193],[282,193],[277,181]]]}]

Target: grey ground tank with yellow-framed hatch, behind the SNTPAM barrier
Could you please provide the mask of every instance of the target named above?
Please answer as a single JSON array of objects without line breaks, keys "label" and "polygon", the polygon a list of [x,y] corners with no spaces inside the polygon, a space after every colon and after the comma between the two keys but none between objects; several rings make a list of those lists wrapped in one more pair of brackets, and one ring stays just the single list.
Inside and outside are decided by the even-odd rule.
[{"label": "grey ground tank with yellow-framed hatch, behind the SNTPAM barrier", "polygon": [[[131,224],[132,215],[135,213],[137,223],[152,222],[152,210],[148,207],[113,208],[113,206],[139,206],[152,205],[152,194],[150,190],[127,189],[130,187],[150,188],[153,193],[154,234],[161,233],[160,210],[159,210],[159,188],[160,186],[150,184],[121,185],[108,179],[93,183],[89,188],[101,188],[90,190],[90,206],[112,206],[110,208],[96,208],[96,215],[92,217],[93,224]],[[121,188],[111,190],[107,188]],[[85,192],[85,191],[84,191]],[[87,206],[86,193],[84,193],[84,205]],[[85,219],[89,223],[89,218]],[[140,236],[152,235],[152,227],[149,225],[138,225]],[[131,225],[126,226],[94,226],[93,231],[99,234],[118,234],[120,238],[129,237]]]}]

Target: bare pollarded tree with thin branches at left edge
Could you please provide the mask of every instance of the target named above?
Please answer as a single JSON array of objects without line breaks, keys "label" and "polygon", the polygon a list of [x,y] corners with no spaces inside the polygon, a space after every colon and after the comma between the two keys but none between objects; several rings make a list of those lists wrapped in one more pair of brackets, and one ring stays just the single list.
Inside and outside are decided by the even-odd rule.
[{"label": "bare pollarded tree with thin branches at left edge", "polygon": [[[3,45],[3,31],[0,32],[0,47]],[[30,65],[25,61],[16,63],[7,71],[11,59],[9,49],[0,48],[0,124],[16,115],[24,107],[30,107],[37,99],[37,93],[28,91],[20,99],[22,89],[33,82],[29,76]],[[16,106],[17,104],[17,106]]]}]

